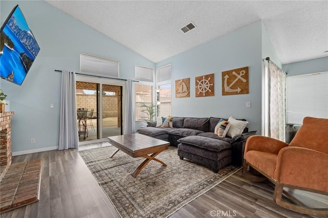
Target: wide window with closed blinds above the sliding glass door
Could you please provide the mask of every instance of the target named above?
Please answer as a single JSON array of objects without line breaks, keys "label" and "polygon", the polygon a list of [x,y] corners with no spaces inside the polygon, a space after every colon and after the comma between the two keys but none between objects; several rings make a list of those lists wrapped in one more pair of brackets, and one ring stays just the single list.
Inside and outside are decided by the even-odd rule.
[{"label": "wide window with closed blinds above the sliding glass door", "polygon": [[80,54],[80,72],[94,76],[118,78],[118,61]]}]

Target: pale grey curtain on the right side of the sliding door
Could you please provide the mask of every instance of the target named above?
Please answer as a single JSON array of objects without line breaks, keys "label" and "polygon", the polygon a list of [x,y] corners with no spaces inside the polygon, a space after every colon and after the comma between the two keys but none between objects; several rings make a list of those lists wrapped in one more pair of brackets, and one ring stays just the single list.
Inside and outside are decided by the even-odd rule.
[{"label": "pale grey curtain on the right side of the sliding door", "polygon": [[127,103],[125,107],[125,134],[134,133],[134,102],[132,80],[127,81]]}]

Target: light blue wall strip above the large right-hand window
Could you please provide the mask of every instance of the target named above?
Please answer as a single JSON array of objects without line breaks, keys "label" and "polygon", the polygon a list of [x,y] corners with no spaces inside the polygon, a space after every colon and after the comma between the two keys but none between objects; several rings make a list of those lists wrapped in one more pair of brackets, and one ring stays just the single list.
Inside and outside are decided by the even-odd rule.
[{"label": "light blue wall strip above the large right-hand window", "polygon": [[283,64],[282,70],[287,76],[328,72],[328,57]]}]

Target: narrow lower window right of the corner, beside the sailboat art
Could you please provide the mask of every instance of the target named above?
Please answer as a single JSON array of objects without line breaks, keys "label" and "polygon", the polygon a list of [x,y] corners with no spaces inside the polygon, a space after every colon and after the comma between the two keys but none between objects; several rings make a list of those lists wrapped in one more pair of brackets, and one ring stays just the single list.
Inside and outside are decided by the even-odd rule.
[{"label": "narrow lower window right of the corner, beside the sailboat art", "polygon": [[158,116],[171,115],[171,83],[159,85]]}]

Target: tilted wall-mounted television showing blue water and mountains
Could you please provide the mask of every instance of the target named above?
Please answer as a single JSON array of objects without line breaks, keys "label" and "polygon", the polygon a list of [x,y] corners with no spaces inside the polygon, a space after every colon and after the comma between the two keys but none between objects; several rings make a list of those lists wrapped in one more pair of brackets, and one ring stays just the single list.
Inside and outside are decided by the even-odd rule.
[{"label": "tilted wall-mounted television showing blue water and mountains", "polygon": [[1,27],[0,76],[21,85],[40,51],[18,5]]}]

